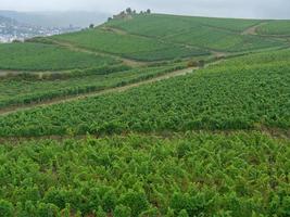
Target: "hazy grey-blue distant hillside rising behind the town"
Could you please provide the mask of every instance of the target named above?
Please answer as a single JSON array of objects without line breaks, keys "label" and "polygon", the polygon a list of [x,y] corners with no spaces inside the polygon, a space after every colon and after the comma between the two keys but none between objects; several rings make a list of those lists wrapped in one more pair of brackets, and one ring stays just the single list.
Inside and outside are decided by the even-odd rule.
[{"label": "hazy grey-blue distant hillside rising behind the town", "polygon": [[110,14],[100,12],[15,12],[0,11],[0,16],[5,16],[36,26],[43,27],[87,27],[89,24],[101,24]]}]

